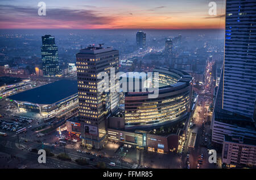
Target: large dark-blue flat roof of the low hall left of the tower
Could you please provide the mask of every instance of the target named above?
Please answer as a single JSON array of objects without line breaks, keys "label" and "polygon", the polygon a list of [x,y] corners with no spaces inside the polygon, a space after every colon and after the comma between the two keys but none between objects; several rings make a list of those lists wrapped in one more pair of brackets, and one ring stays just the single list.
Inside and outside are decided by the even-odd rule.
[{"label": "large dark-blue flat roof of the low hall left of the tower", "polygon": [[22,93],[11,95],[10,99],[34,104],[53,104],[78,93],[77,81],[61,79]]}]

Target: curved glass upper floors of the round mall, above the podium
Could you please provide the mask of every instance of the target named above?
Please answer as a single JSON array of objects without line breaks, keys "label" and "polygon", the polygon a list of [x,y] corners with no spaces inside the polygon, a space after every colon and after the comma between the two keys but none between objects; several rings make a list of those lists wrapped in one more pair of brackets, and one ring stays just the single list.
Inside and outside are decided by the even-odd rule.
[{"label": "curved glass upper floors of the round mall, above the podium", "polygon": [[154,72],[159,73],[157,98],[148,98],[148,92],[125,94],[126,129],[172,123],[183,119],[191,110],[192,77],[172,68],[156,68]]}]

